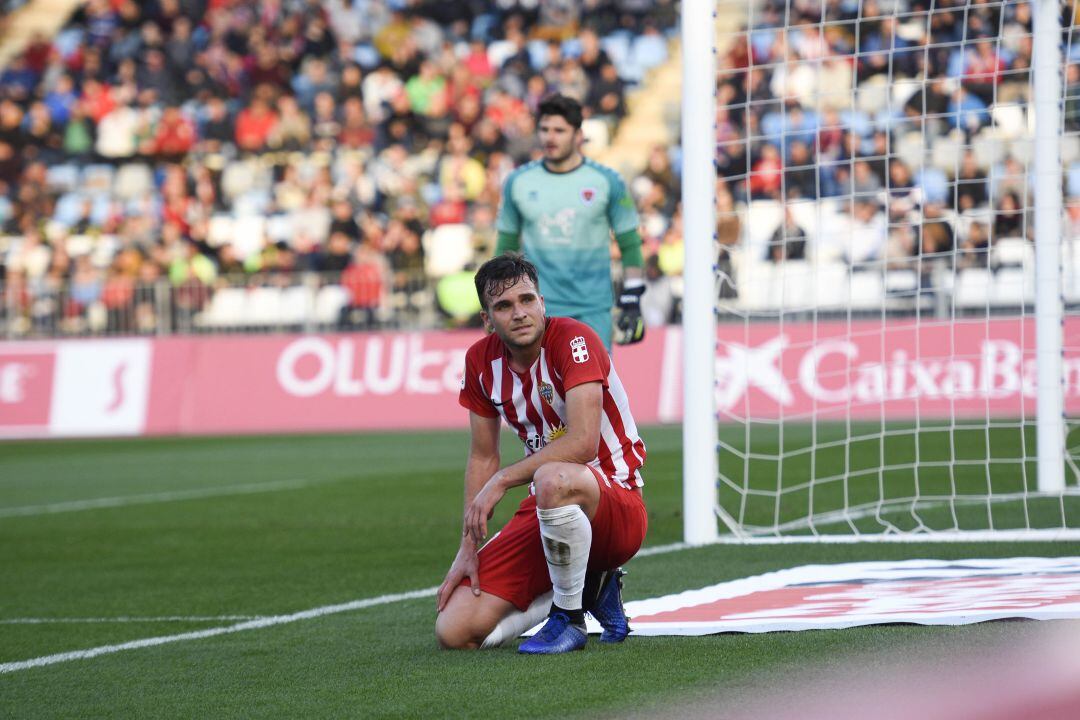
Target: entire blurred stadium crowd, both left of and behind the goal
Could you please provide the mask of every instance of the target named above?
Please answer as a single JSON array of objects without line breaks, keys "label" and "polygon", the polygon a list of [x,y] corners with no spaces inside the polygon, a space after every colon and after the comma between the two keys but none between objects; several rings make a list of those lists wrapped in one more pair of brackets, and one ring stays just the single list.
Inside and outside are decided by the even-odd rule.
[{"label": "entire blurred stadium crowd, both left of and behind the goal", "polygon": [[[1029,3],[751,6],[717,82],[723,272],[739,246],[930,282],[934,263],[991,267],[996,240],[1030,239]],[[580,98],[610,134],[627,89],[666,58],[676,12],[673,0],[90,0],[0,73],[6,334],[191,329],[218,287],[313,273],[343,288],[346,325],[446,304],[424,234],[445,227],[436,250],[460,246],[436,274],[487,257],[502,180],[535,157],[540,98]],[[1080,66],[1066,82],[1075,132]],[[1063,150],[1075,236],[1080,148]],[[630,182],[651,323],[677,314],[678,172],[677,147],[657,147]],[[755,205],[772,219],[747,222]]]}]

